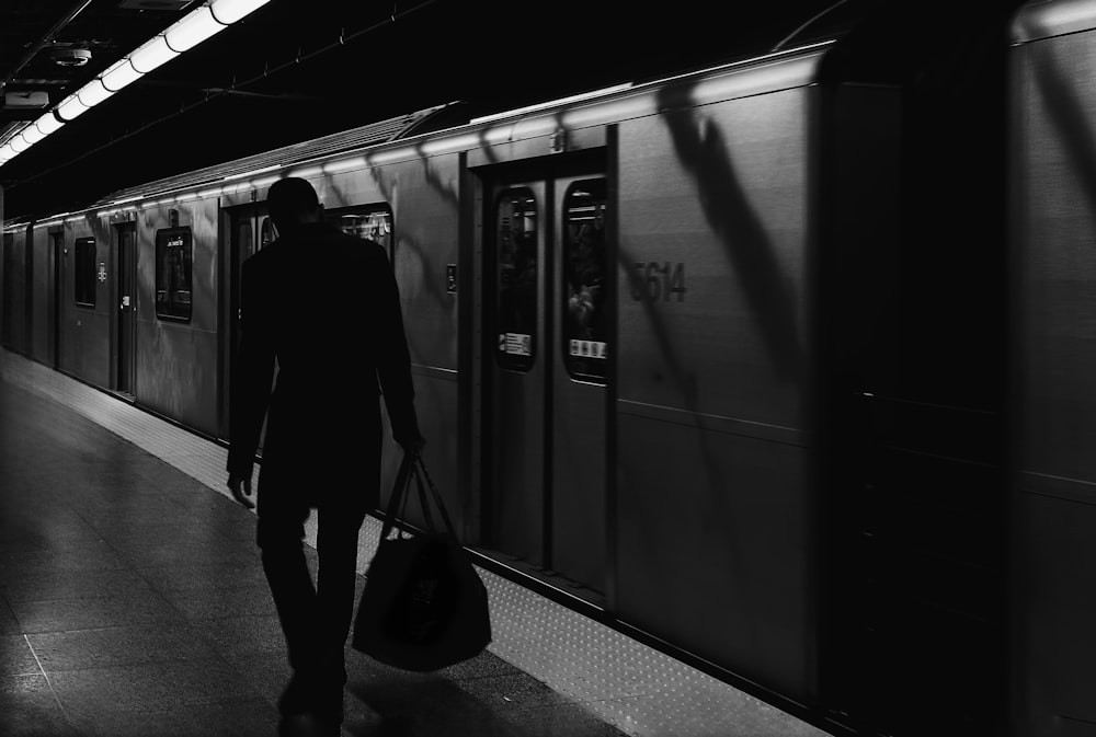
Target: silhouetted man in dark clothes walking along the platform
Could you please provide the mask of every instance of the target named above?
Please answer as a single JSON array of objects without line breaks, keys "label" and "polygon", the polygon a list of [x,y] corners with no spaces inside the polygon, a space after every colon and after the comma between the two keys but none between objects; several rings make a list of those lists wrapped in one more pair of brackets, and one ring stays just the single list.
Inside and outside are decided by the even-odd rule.
[{"label": "silhouetted man in dark clothes walking along the platform", "polygon": [[[283,725],[307,714],[338,734],[357,537],[379,503],[378,379],[397,442],[416,453],[423,439],[384,250],[327,224],[305,180],[279,180],[266,204],[278,238],[243,264],[228,486],[240,504],[255,506],[251,473],[265,418],[258,543],[293,667],[278,707]],[[310,509],[315,586],[301,548]]]}]

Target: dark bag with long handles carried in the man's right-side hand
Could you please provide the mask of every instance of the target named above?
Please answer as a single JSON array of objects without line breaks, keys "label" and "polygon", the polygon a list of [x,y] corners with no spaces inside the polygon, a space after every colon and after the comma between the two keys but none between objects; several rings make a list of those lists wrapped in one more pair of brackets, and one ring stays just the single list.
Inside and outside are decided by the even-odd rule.
[{"label": "dark bag with long handles carried in the man's right-side hand", "polygon": [[[397,530],[390,539],[412,482],[426,530],[410,537]],[[431,503],[441,513],[444,530],[434,523]],[[487,588],[457,541],[422,459],[404,456],[366,574],[351,645],[393,668],[423,671],[475,657],[490,642]]]}]

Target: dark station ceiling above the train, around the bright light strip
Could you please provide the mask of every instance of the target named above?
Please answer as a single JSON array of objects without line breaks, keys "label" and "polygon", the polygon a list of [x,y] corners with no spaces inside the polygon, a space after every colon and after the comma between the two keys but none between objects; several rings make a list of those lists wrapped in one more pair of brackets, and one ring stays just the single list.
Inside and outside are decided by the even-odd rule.
[{"label": "dark station ceiling above the train, around the bright light strip", "polygon": [[[0,138],[203,1],[0,1]],[[0,168],[3,216],[455,100],[500,112],[765,53],[834,4],[760,0],[728,19],[701,0],[271,0]],[[837,4],[796,42],[847,25],[864,0]]]}]

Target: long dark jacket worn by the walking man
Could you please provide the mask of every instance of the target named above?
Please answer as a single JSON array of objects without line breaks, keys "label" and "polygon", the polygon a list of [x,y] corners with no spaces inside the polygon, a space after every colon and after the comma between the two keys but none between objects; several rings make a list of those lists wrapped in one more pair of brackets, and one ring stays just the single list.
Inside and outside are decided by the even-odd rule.
[{"label": "long dark jacket worn by the walking man", "polygon": [[380,245],[302,226],[244,262],[240,304],[229,473],[250,477],[266,417],[261,490],[278,476],[352,474],[362,452],[379,453],[379,390],[393,437],[418,437],[399,291]]}]

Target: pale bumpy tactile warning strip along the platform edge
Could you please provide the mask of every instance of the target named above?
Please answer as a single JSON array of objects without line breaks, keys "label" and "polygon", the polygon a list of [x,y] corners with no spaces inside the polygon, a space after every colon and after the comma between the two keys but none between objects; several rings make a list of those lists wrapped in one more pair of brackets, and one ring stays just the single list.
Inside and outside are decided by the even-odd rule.
[{"label": "pale bumpy tactile warning strip along the platform edge", "polygon": [[[45,394],[228,495],[227,451],[170,423],[0,349],[0,378]],[[364,572],[380,521],[366,519]],[[315,525],[307,539],[315,546]],[[825,732],[701,671],[480,569],[491,603],[492,653],[636,737],[824,737]]]}]

